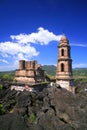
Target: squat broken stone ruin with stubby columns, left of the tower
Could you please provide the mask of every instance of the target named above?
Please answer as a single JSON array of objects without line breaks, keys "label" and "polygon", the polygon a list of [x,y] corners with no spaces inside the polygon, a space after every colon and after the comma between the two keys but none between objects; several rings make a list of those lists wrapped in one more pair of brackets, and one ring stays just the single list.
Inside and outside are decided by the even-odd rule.
[{"label": "squat broken stone ruin with stubby columns, left of the tower", "polygon": [[15,79],[21,83],[39,83],[45,80],[44,70],[37,61],[19,61],[19,69],[16,70]]}]

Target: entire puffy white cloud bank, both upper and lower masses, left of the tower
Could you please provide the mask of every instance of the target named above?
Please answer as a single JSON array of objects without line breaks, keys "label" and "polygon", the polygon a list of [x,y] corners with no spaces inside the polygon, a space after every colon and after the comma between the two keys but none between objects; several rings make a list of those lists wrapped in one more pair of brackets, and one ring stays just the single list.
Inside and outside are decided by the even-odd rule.
[{"label": "entire puffy white cloud bank, both upper and lower masses, left of the tower", "polygon": [[37,44],[48,45],[51,41],[59,41],[61,36],[55,35],[42,27],[39,27],[37,32],[30,34],[11,35],[10,41],[0,42],[0,56],[2,57],[0,62],[6,64],[10,62],[7,68],[12,65],[14,68],[19,60],[30,60],[32,57],[39,55],[40,50],[37,51],[35,48]]}]

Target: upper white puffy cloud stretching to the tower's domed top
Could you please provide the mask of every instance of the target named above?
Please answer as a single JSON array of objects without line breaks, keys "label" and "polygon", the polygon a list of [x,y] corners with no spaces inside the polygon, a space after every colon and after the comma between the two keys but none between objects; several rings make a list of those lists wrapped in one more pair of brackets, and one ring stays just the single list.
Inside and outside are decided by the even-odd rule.
[{"label": "upper white puffy cloud stretching to the tower's domed top", "polygon": [[31,34],[19,34],[11,35],[12,40],[16,40],[18,43],[27,44],[34,43],[40,45],[47,45],[51,41],[59,41],[62,35],[55,35],[53,32],[49,32],[42,27],[38,28],[38,32]]}]

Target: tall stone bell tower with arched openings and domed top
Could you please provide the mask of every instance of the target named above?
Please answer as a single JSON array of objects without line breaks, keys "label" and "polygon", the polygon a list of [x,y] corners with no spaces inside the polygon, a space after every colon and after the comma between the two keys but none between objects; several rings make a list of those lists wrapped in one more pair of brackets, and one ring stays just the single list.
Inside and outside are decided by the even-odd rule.
[{"label": "tall stone bell tower with arched openings and domed top", "polygon": [[60,84],[62,88],[66,88],[67,90],[70,90],[73,86],[70,45],[69,40],[65,35],[61,37],[58,45],[56,83]]}]

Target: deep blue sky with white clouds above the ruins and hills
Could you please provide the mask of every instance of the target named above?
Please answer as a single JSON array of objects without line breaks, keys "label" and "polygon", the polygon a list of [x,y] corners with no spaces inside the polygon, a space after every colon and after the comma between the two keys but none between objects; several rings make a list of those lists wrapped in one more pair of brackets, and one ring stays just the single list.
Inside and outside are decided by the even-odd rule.
[{"label": "deep blue sky with white clouds above the ruins and hills", "polygon": [[73,68],[87,67],[87,0],[0,0],[0,71],[21,59],[56,65],[62,34]]}]

